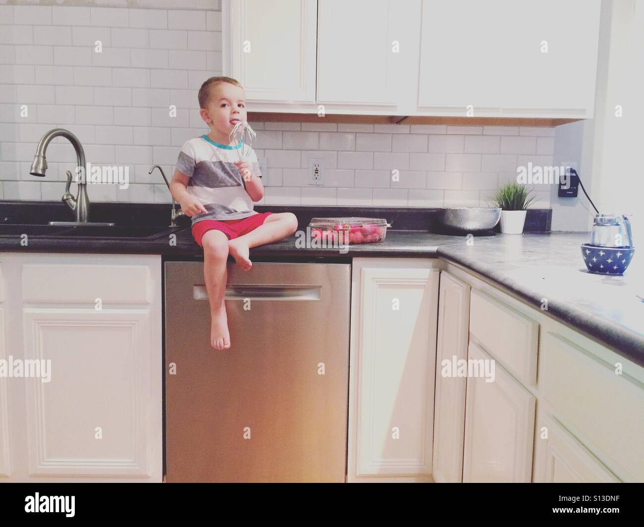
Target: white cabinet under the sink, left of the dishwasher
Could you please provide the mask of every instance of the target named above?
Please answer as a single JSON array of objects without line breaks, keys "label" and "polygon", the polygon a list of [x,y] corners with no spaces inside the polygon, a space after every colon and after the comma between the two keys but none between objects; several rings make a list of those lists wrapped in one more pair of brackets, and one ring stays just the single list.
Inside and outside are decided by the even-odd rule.
[{"label": "white cabinet under the sink, left of the dishwasher", "polygon": [[1,253],[0,265],[12,356],[50,361],[48,380],[6,379],[5,481],[160,482],[160,256]]}]

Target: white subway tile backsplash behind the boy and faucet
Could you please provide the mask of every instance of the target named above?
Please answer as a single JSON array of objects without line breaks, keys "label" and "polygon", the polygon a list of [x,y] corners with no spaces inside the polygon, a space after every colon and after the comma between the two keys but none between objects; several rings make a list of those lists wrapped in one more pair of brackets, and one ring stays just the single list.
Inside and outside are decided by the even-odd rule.
[{"label": "white subway tile backsplash behind the boy and faucet", "polygon": [[[28,171],[36,142],[61,126],[91,163],[130,170],[128,189],[92,186],[93,201],[169,203],[164,182],[147,172],[161,164],[171,175],[185,140],[207,133],[197,92],[223,70],[222,14],[213,5],[0,6],[0,197],[60,200],[75,164],[68,142],[50,145],[46,181]],[[16,12],[19,25],[7,25]],[[251,126],[266,189],[260,203],[269,205],[478,206],[516,179],[519,162],[551,163],[554,149],[554,128],[325,118]],[[324,160],[323,186],[309,184],[310,158]],[[537,189],[539,204],[549,204],[550,191]]]}]

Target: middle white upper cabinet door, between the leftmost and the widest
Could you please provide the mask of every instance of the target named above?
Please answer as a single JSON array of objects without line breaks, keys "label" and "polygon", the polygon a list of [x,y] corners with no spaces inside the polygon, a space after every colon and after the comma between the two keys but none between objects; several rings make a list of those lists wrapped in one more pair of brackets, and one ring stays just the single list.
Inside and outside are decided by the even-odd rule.
[{"label": "middle white upper cabinet door, between the leftmost and the widest", "polygon": [[420,13],[420,0],[319,2],[317,102],[399,104],[415,88]]}]

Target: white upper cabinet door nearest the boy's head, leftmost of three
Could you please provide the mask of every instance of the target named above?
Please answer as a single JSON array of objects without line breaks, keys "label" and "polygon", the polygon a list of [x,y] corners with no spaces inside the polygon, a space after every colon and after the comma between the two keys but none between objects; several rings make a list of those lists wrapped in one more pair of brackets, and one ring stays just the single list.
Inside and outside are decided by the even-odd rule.
[{"label": "white upper cabinet door nearest the boy's head, leftmost of three", "polygon": [[223,74],[248,101],[316,99],[316,0],[224,0]]}]

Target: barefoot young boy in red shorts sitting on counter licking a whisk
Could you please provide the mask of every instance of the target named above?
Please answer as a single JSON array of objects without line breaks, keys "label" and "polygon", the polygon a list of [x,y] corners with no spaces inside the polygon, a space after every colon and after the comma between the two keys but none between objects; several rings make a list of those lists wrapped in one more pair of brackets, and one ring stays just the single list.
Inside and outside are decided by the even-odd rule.
[{"label": "barefoot young boy in red shorts sitting on counter licking a whisk", "polygon": [[251,150],[240,161],[236,148],[242,144],[231,145],[229,139],[235,124],[246,120],[242,85],[230,77],[211,77],[202,84],[198,98],[210,133],[184,143],[170,192],[185,215],[192,217],[194,240],[204,249],[210,341],[214,349],[223,350],[231,347],[223,303],[228,255],[249,271],[249,249],[291,235],[298,220],[292,213],[260,214],[252,209],[264,195],[257,155]]}]

